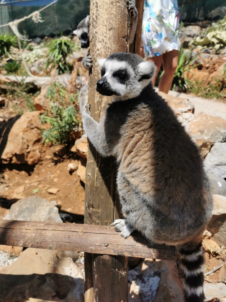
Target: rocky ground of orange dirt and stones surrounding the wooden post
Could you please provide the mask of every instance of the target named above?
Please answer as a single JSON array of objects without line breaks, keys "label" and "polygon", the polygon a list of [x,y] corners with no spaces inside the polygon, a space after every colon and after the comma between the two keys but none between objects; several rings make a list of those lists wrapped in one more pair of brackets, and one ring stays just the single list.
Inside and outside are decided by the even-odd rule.
[{"label": "rocky ground of orange dirt and stones surrounding the wooden post", "polygon": [[[187,29],[186,37],[194,38],[198,31]],[[80,70],[84,54],[74,54]],[[223,50],[217,55],[212,50],[204,52],[199,58],[202,61],[195,75],[208,82],[213,72],[222,74]],[[19,115],[19,109],[26,109],[24,101],[0,95],[0,219],[83,223],[87,138],[78,127],[70,143],[42,143],[40,114],[48,106],[46,93],[52,78],[39,74],[40,66],[31,67],[38,76],[26,81],[40,92],[34,99],[36,111],[25,110]],[[83,70],[74,79],[76,89],[86,76]],[[65,87],[72,83],[70,75],[54,79]],[[5,91],[10,83],[17,81],[18,85],[20,80],[2,74],[0,87]],[[215,208],[203,235],[205,294],[208,301],[225,302],[226,104],[186,94],[178,97],[179,92],[161,95],[199,146],[212,182]],[[0,279],[1,302],[80,302],[84,300],[83,253],[0,246]],[[138,264],[137,259],[129,259],[128,281],[129,301],[182,301],[174,261],[141,259]]]}]

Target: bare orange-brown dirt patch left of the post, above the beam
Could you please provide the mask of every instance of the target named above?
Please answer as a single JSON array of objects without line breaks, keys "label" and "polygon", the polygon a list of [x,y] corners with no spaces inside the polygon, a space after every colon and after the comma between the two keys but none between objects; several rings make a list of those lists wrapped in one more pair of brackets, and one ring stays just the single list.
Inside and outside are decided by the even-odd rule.
[{"label": "bare orange-brown dirt patch left of the post, above the beam", "polygon": [[[11,204],[21,197],[32,194],[57,201],[61,213],[70,214],[71,222],[83,223],[84,215],[84,184],[80,182],[76,171],[67,170],[69,162],[78,165],[78,159],[64,158],[54,160],[53,150],[46,150],[45,159],[35,167],[28,165],[2,165],[0,182],[4,183],[7,190],[0,197],[0,219],[9,212]],[[55,158],[57,159],[57,158]],[[49,188],[58,188],[56,194],[47,192]]]}]

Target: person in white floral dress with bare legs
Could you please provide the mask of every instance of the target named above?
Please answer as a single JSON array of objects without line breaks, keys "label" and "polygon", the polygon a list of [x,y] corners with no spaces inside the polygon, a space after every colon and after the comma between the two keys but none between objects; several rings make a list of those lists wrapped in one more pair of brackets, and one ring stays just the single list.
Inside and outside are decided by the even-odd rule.
[{"label": "person in white floral dress with bare legs", "polygon": [[168,93],[180,49],[177,0],[145,0],[141,38],[145,58],[157,67],[153,86],[162,65],[164,74],[159,80],[159,91]]}]

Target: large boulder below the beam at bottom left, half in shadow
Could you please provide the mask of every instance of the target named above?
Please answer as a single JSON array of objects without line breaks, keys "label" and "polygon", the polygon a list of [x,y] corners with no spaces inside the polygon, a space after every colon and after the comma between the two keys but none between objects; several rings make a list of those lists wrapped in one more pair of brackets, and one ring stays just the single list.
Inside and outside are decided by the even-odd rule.
[{"label": "large boulder below the beam at bottom left, half in shadow", "polygon": [[84,275],[63,251],[28,248],[0,269],[2,302],[83,302],[83,295]]}]

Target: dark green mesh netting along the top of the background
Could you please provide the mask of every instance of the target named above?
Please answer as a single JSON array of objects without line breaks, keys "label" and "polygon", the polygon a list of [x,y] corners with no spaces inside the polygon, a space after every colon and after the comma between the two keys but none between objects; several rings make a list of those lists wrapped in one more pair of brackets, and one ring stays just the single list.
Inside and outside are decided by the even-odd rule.
[{"label": "dark green mesh netting along the top of the background", "polygon": [[[178,5],[180,21],[183,22],[218,20],[226,14],[226,0],[178,0]],[[0,5],[0,25],[23,18],[40,8],[40,6],[2,4]],[[56,4],[41,12],[42,19],[45,22],[35,24],[29,19],[22,22],[18,29],[21,33],[26,32],[30,38],[54,36],[61,33],[67,35],[77,27],[77,24],[87,14],[89,14],[89,0],[59,0]],[[0,28],[0,34],[9,31],[8,27]]]}]

